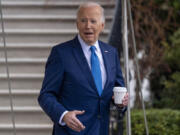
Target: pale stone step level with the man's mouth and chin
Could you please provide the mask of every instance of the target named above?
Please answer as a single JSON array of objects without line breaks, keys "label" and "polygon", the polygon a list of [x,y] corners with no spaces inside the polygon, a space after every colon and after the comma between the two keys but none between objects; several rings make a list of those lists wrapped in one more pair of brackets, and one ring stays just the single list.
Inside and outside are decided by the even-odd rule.
[{"label": "pale stone step level with the man's mouth and chin", "polygon": [[[77,35],[76,29],[56,30],[56,29],[5,29],[6,42],[8,43],[62,43],[73,39]],[[104,30],[100,35],[100,40],[107,41],[109,30]],[[2,32],[0,32],[2,36]]]}]

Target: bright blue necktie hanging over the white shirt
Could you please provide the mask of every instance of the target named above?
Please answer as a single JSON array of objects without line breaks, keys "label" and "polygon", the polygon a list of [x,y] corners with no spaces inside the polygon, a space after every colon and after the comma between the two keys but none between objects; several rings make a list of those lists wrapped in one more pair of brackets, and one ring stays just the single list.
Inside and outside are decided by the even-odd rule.
[{"label": "bright blue necktie hanging over the white shirt", "polygon": [[98,90],[99,95],[102,93],[102,78],[101,78],[101,69],[100,62],[95,53],[96,47],[91,46],[91,72],[94,78],[94,82],[96,84],[96,88]]}]

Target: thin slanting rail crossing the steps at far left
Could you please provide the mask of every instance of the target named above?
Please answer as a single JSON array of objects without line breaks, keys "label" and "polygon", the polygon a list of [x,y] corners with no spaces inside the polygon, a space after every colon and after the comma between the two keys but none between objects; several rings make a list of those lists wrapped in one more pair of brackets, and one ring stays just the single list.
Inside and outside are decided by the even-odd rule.
[{"label": "thin slanting rail crossing the steps at far left", "polygon": [[16,127],[15,127],[15,114],[13,108],[13,99],[12,99],[12,89],[11,89],[11,80],[9,75],[9,65],[8,65],[8,58],[7,58],[7,47],[6,47],[6,35],[4,31],[4,20],[3,20],[3,13],[2,13],[2,1],[0,0],[0,20],[1,20],[1,27],[2,27],[2,40],[4,44],[4,56],[5,56],[5,65],[6,65],[6,72],[7,72],[7,82],[8,82],[8,89],[9,89],[9,99],[10,99],[10,108],[11,108],[11,120],[13,124],[13,134],[16,135]]}]

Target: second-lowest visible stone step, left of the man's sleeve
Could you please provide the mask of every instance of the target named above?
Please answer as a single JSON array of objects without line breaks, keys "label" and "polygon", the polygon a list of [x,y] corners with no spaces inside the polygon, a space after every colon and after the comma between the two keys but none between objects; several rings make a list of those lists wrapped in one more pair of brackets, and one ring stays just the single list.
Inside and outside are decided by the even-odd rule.
[{"label": "second-lowest visible stone step, left of the man's sleeve", "polygon": [[[40,107],[13,107],[16,124],[51,124],[50,118]],[[0,107],[0,119],[3,124],[11,124],[10,107]]]}]

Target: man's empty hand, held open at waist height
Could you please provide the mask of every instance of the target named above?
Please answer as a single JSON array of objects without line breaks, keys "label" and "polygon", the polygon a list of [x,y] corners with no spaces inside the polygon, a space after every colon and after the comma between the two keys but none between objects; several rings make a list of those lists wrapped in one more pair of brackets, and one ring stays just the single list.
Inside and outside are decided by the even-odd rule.
[{"label": "man's empty hand, held open at waist height", "polygon": [[85,126],[78,120],[78,118],[76,117],[76,115],[81,115],[83,114],[85,111],[69,111],[68,113],[66,113],[63,117],[63,122],[65,122],[67,124],[67,126],[69,128],[71,128],[72,130],[75,130],[77,132],[80,132],[82,130],[85,129]]}]

